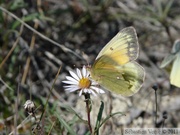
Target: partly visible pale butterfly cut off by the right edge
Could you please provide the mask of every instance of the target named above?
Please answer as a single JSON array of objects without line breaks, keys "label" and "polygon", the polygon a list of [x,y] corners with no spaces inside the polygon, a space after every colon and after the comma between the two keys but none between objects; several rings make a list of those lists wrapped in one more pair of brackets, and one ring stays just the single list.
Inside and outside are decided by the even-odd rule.
[{"label": "partly visible pale butterfly cut off by the right edge", "polygon": [[171,53],[167,55],[161,63],[161,68],[166,67],[173,62],[170,83],[177,87],[180,87],[180,39],[174,42]]}]

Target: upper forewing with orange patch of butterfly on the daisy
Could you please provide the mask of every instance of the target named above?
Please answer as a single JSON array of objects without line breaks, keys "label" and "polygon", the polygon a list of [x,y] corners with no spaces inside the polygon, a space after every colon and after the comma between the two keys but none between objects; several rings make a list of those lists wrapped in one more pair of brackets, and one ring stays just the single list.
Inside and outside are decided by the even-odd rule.
[{"label": "upper forewing with orange patch of butterfly on the daisy", "polygon": [[133,27],[121,30],[100,51],[96,60],[102,55],[113,57],[115,61],[123,65],[131,60],[136,60],[139,52],[137,34]]}]

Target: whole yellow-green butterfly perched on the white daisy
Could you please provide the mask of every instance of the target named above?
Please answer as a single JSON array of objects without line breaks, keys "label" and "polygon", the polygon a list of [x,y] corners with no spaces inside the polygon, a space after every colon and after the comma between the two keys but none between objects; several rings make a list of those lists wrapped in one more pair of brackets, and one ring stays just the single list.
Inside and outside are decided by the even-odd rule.
[{"label": "whole yellow-green butterfly perched on the white daisy", "polygon": [[135,61],[138,54],[135,29],[124,28],[99,52],[90,69],[90,76],[106,90],[132,96],[139,91],[145,78],[143,67]]}]

